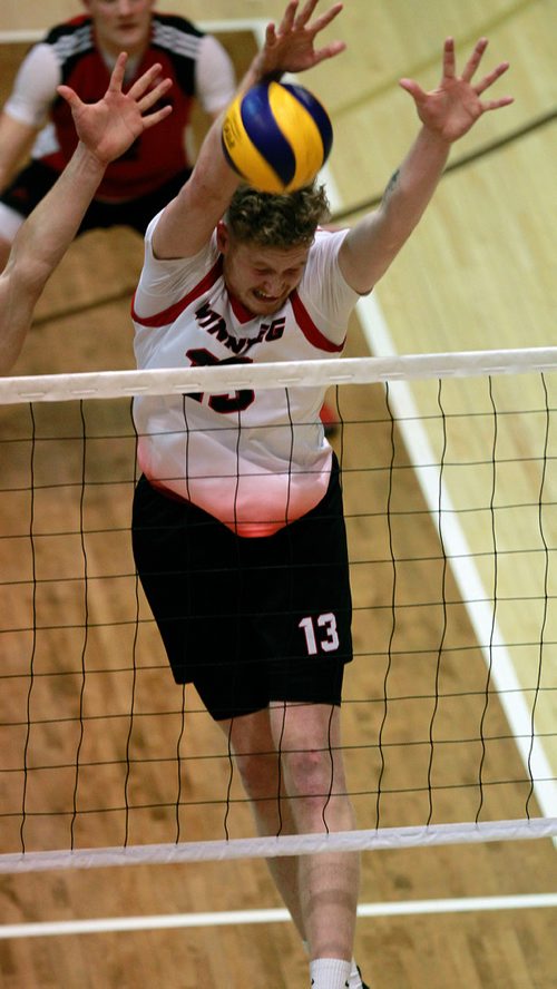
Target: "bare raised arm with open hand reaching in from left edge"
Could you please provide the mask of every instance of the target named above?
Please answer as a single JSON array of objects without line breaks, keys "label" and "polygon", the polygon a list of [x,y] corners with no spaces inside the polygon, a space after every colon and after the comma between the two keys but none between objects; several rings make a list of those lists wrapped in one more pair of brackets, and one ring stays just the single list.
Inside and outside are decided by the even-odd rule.
[{"label": "bare raised arm with open hand reaching in from left edge", "polygon": [[[67,86],[59,94],[69,102],[79,144],[47,196],[18,231],[8,264],[0,275],[0,373],[7,374],[23,344],[36,302],[74,239],[109,161],[118,158],[148,127],[172,111],[147,112],[170,87],[153,66],[121,91],[126,55],[116,62],[107,92],[84,104]],[[144,116],[145,115],[145,116]]]}]

